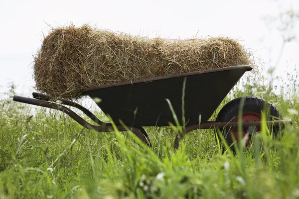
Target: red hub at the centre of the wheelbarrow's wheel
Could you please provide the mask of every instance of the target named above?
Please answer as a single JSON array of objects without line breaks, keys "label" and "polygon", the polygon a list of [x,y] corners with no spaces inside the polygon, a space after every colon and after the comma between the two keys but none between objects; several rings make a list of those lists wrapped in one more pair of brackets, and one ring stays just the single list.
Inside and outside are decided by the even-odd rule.
[{"label": "red hub at the centre of the wheelbarrow's wheel", "polygon": [[[236,116],[235,119],[233,120],[233,122],[238,122],[238,121],[239,121],[239,118],[238,118],[238,116]],[[242,122],[247,122],[247,121],[261,121],[261,114],[259,114],[257,112],[253,112],[253,111],[244,112],[242,114]],[[246,134],[248,134],[248,140],[246,142],[246,146],[249,146],[252,134],[249,134],[246,129],[247,128],[243,127],[243,131],[241,133],[242,133],[242,138]],[[256,127],[256,129],[257,129],[257,132],[260,131],[260,127]],[[238,132],[237,127],[231,128],[231,134],[232,134],[232,136],[234,136],[237,143],[239,143],[239,132]]]}]

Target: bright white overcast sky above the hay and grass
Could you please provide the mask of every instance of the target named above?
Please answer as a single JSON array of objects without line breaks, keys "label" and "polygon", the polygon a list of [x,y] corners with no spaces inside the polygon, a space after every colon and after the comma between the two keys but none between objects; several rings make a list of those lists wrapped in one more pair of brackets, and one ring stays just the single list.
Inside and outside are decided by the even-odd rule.
[{"label": "bright white overcast sky above the hay and grass", "polygon": [[[32,55],[47,35],[47,24],[90,23],[163,38],[191,38],[197,32],[197,37],[224,35],[243,40],[246,48],[257,50],[256,57],[275,61],[281,35],[270,32],[261,17],[284,8],[299,10],[299,0],[283,2],[278,6],[273,0],[0,0],[0,92],[13,81],[18,95],[30,96]],[[299,64],[298,49],[297,42],[286,45],[277,75],[286,75],[287,62],[293,69]]]}]

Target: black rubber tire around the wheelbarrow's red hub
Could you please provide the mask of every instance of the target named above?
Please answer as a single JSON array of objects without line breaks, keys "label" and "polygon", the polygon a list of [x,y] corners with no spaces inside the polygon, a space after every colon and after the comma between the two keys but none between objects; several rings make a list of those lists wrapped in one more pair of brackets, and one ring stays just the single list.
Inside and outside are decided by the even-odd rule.
[{"label": "black rubber tire around the wheelbarrow's red hub", "polygon": [[[234,117],[238,117],[239,107],[241,105],[242,98],[245,98],[242,112],[252,111],[261,114],[264,110],[264,105],[266,105],[267,120],[277,120],[277,118],[282,118],[279,110],[269,101],[254,96],[246,96],[236,98],[225,104],[223,108],[219,111],[216,118],[216,122],[230,122],[232,119],[234,119]],[[273,135],[274,137],[276,137],[279,129],[276,129],[274,127],[270,130],[273,130]],[[220,132],[222,132],[223,137],[225,138],[227,144],[230,146],[233,143],[233,139],[231,137],[231,134],[229,133],[229,128],[220,129]],[[215,130],[215,136],[216,133],[217,129]],[[219,141],[221,143],[221,139]],[[234,146],[231,146],[231,150],[235,152]]]}]

